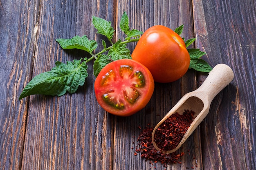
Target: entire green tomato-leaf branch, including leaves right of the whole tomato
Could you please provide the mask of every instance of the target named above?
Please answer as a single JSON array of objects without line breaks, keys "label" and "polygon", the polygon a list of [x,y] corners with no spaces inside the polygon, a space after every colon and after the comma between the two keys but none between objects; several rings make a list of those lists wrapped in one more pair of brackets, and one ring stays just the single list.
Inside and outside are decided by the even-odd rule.
[{"label": "entire green tomato-leaf branch, including leaves right of the whole tomato", "polygon": [[[107,43],[102,40],[103,50],[94,54],[93,52],[97,49],[98,43],[95,40],[89,40],[86,35],[83,35],[82,37],[76,35],[71,39],[56,39],[63,49],[81,49],[87,51],[91,56],[89,58],[73,60],[73,62],[67,62],[67,64],[56,62],[55,67],[52,68],[51,71],[41,73],[31,79],[27,86],[25,86],[19,99],[35,94],[61,96],[67,92],[70,94],[75,93],[79,86],[83,86],[86,77],[88,77],[88,66],[86,63],[94,60],[93,74],[97,77],[101,69],[110,62],[124,58],[131,59],[130,50],[126,48],[126,45],[130,42],[139,41],[143,32],[136,29],[130,29],[129,19],[126,12],[123,13],[119,25],[121,31],[126,35],[124,41],[112,41],[115,30],[111,26],[110,21],[94,16],[92,17],[92,24],[95,29],[97,29],[97,33],[106,36],[111,45],[107,46]],[[182,31],[183,25],[175,29],[175,32],[179,35]],[[186,40],[186,47],[194,41],[195,38]],[[188,49],[188,51],[191,58],[189,68],[204,72],[211,71],[211,66],[200,59],[200,57],[205,54],[204,52],[199,49]]]}]

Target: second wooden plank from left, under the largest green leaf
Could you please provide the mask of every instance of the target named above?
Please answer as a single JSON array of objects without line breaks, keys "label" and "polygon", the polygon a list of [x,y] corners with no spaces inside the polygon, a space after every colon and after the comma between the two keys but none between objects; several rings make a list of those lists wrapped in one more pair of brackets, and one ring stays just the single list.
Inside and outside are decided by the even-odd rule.
[{"label": "second wooden plank from left, under the largest green leaf", "polygon": [[[108,8],[106,8],[108,7]],[[49,71],[54,62],[89,57],[62,50],[56,38],[86,34],[101,42],[92,16],[114,21],[114,2],[41,1],[33,77]],[[96,51],[97,52],[97,51]],[[112,169],[112,117],[97,104],[92,63],[85,85],[62,97],[33,95],[29,99],[22,169]]]}]

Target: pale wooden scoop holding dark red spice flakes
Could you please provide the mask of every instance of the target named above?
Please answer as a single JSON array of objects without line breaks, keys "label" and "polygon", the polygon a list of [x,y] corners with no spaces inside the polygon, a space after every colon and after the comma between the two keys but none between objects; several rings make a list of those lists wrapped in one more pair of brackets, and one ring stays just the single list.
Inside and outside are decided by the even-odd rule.
[{"label": "pale wooden scoop holding dark red spice flakes", "polygon": [[198,127],[201,121],[209,113],[209,108],[213,98],[222,91],[234,78],[234,73],[231,68],[225,64],[216,65],[209,73],[204,83],[195,91],[184,95],[179,102],[166,114],[166,116],[155,126],[152,133],[152,142],[156,150],[160,150],[155,143],[154,136],[157,128],[173,113],[182,114],[184,110],[193,110],[195,112],[194,120],[189,126],[189,129],[184,134],[180,144],[173,150],[163,151],[164,153],[175,152],[182,146],[184,141],[192,134]]}]

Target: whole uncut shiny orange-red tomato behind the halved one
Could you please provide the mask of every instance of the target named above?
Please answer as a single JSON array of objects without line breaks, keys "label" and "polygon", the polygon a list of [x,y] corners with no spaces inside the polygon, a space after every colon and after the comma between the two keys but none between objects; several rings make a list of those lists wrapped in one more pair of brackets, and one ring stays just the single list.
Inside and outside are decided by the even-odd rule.
[{"label": "whole uncut shiny orange-red tomato behind the halved one", "polygon": [[147,29],[132,52],[132,60],[141,62],[152,73],[155,82],[167,83],[180,79],[190,64],[184,40],[166,26]]}]

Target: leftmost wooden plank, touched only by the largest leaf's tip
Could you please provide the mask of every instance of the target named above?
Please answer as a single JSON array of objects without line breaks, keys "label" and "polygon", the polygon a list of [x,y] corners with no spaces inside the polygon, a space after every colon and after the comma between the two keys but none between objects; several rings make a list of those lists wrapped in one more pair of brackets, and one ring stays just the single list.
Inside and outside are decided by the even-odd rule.
[{"label": "leftmost wooden plank, touched only by the largest leaf's tip", "polygon": [[0,1],[0,169],[21,167],[27,100],[19,101],[31,77],[38,2]]}]

